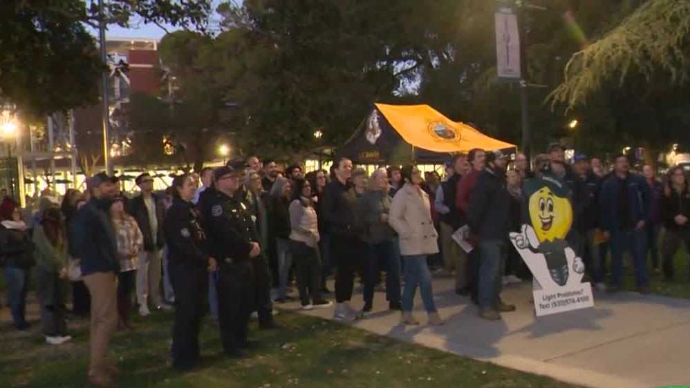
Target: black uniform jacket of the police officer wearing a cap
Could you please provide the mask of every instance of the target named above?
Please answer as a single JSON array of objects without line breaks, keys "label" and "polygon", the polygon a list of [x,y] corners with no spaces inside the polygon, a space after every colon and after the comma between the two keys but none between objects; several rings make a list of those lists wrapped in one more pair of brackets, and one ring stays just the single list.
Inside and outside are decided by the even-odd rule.
[{"label": "black uniform jacket of the police officer wearing a cap", "polygon": [[218,264],[249,259],[251,243],[259,242],[259,235],[247,205],[221,191],[214,191],[205,205],[209,248]]}]

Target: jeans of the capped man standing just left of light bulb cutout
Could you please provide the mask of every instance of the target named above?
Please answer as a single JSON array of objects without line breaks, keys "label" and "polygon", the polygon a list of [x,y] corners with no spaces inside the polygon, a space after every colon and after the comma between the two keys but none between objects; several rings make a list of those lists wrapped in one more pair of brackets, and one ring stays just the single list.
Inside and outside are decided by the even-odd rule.
[{"label": "jeans of the capped man standing just left of light bulb cutout", "polygon": [[482,240],[479,243],[478,301],[480,309],[496,309],[501,293],[501,272],[506,257],[505,242]]}]

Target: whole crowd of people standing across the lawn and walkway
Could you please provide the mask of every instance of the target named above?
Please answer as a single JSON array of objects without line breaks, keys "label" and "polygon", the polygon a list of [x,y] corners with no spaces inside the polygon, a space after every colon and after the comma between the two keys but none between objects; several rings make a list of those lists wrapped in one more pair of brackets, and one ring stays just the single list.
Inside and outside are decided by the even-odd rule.
[{"label": "whole crowd of people standing across the lawn and walkway", "polygon": [[[530,168],[525,155],[511,161],[500,151],[474,149],[454,155],[444,179],[414,165],[368,176],[344,157],[330,171],[304,175],[299,164],[281,172],[252,156],[179,175],[165,193],[154,193],[152,177],[143,173],[132,198],[120,192],[117,178],[99,173],[84,193],[69,190],[62,204],[41,201],[30,222],[6,197],[0,258],[8,306],[16,329],[28,329],[26,297],[35,274],[42,331],[48,344],[59,345],[71,340],[71,299],[71,313],[91,317],[88,376],[98,386],[113,385],[119,373],[109,341],[113,332],[133,329],[136,309],[146,317],[174,308],[172,365],[188,370],[198,363],[207,310],[225,353],[242,357],[254,346],[252,313],[261,329],[279,329],[273,304],[294,299],[293,282],[302,309],[333,307],[326,298],[333,295],[334,318],[344,321],[365,318],[375,291],[385,289],[389,310],[400,311],[406,325],[420,324],[412,313],[419,289],[428,324],[441,325],[432,273],[445,273],[481,318],[500,320],[516,309],[501,299],[502,287],[531,276],[508,235],[525,222],[523,182],[543,174],[570,188],[567,240],[597,291],[622,287],[626,252],[638,291],[649,292],[648,253],[652,270],[672,280],[675,253],[682,242],[690,246],[683,169],[671,168],[662,182],[653,166],[631,171],[626,155],[607,171],[601,159],[585,155],[566,163],[564,151],[552,144]],[[452,237],[463,226],[474,246],[469,253]],[[334,292],[326,283],[331,276]],[[362,309],[351,303],[357,278]]]}]

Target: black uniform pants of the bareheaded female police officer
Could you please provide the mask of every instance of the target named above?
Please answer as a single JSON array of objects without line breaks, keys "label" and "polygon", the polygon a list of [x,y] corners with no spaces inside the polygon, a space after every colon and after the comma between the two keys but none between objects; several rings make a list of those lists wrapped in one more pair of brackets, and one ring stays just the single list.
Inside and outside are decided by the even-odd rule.
[{"label": "black uniform pants of the bareheaded female police officer", "polygon": [[168,263],[175,292],[173,367],[189,369],[199,360],[199,330],[207,309],[208,272],[205,266]]}]

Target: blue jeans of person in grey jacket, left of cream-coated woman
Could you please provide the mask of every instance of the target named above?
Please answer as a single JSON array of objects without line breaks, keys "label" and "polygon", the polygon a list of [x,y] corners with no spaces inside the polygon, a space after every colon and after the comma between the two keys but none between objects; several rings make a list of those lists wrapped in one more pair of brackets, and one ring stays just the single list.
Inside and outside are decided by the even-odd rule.
[{"label": "blue jeans of person in grey jacket, left of cream-coated woman", "polygon": [[381,269],[386,269],[386,300],[391,304],[400,303],[400,256],[395,241],[366,244],[364,262],[364,302],[374,300],[374,287]]}]

